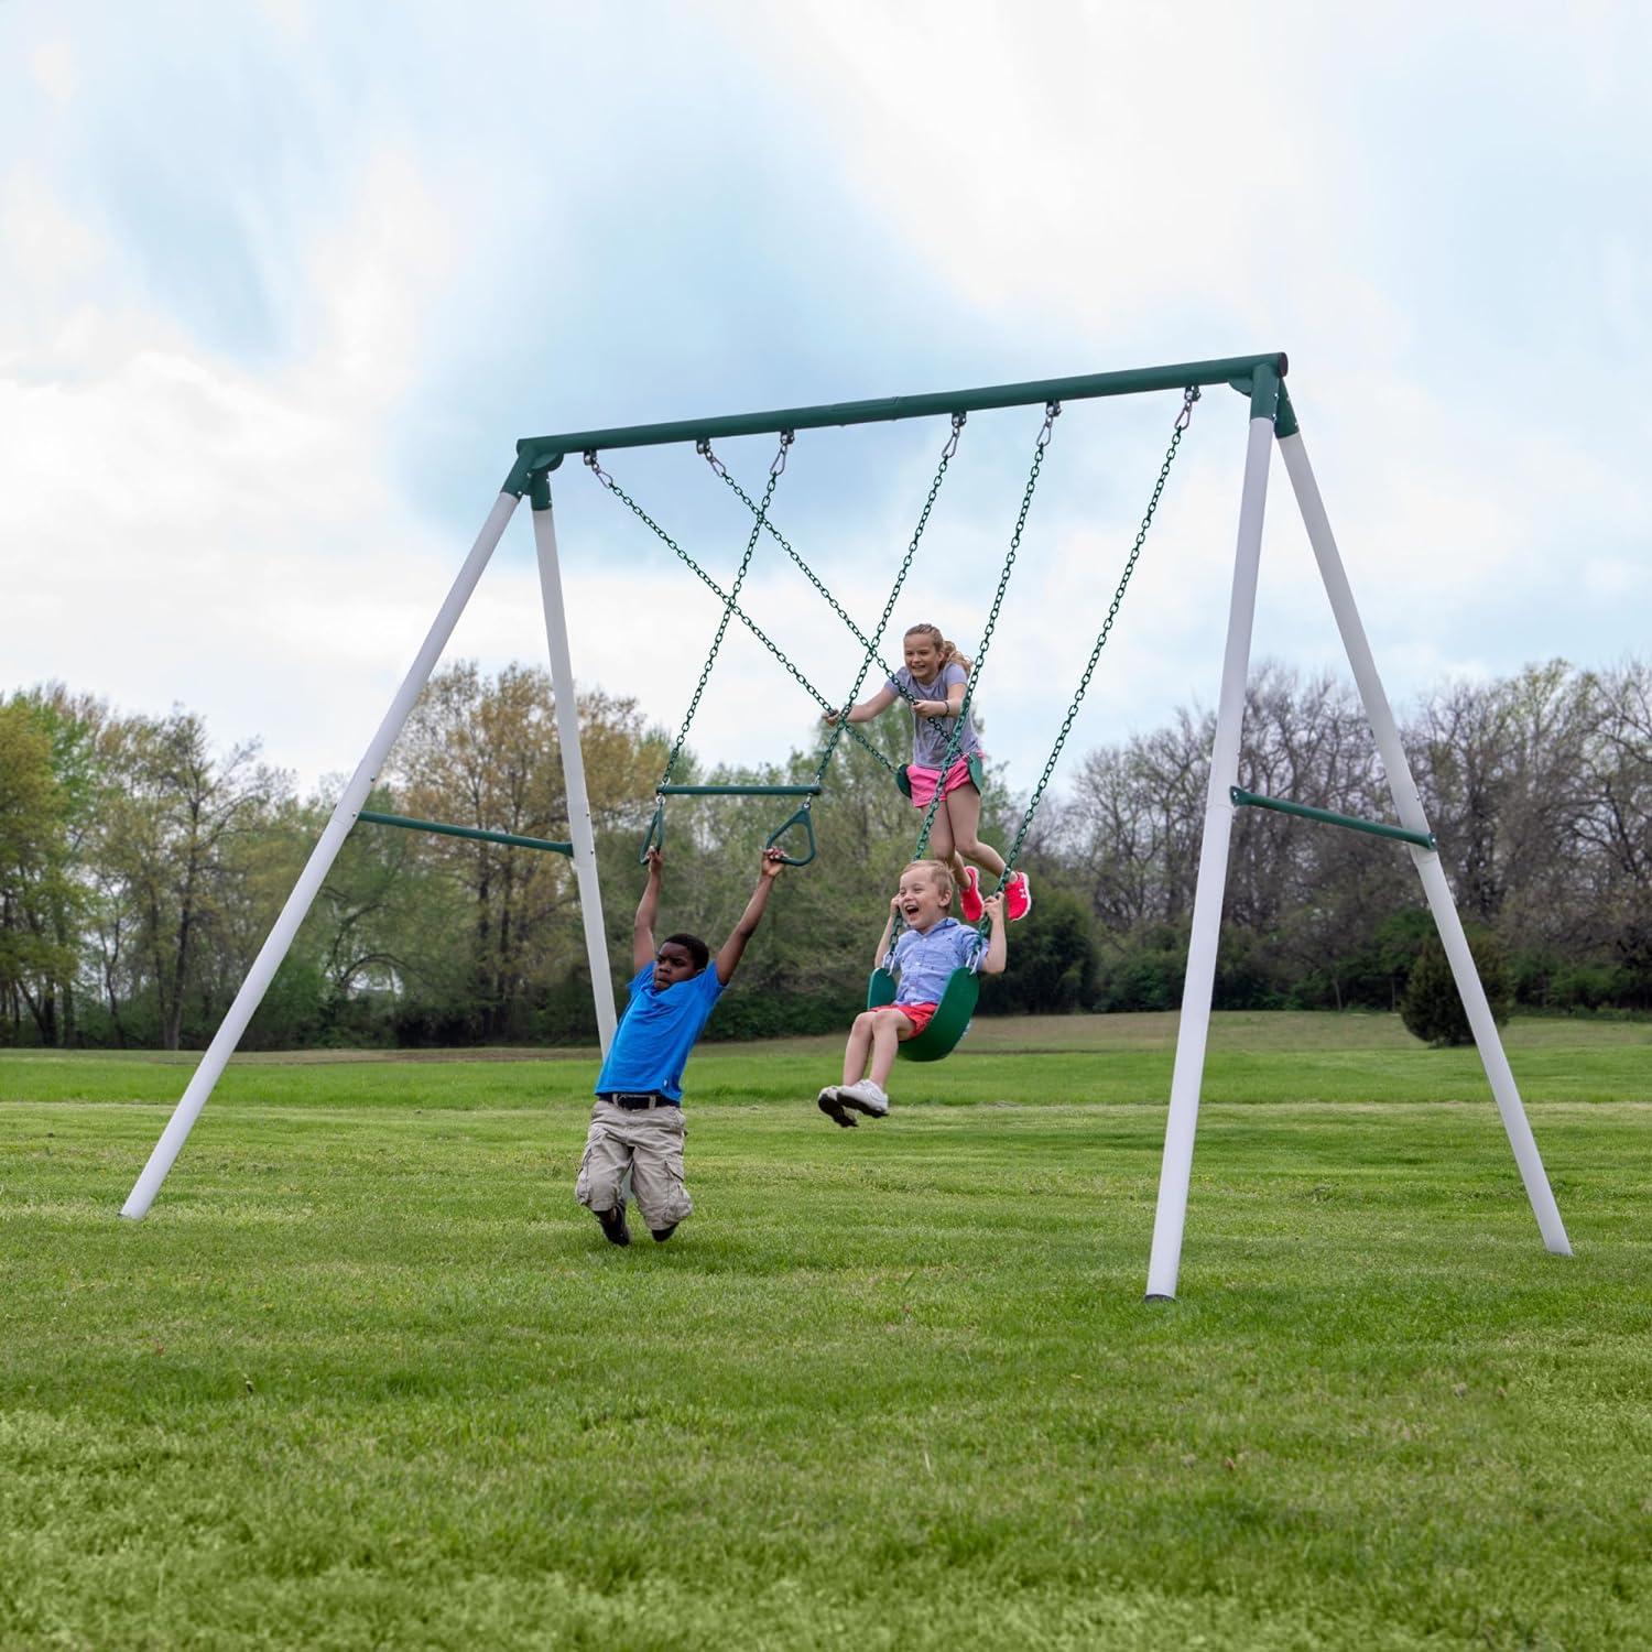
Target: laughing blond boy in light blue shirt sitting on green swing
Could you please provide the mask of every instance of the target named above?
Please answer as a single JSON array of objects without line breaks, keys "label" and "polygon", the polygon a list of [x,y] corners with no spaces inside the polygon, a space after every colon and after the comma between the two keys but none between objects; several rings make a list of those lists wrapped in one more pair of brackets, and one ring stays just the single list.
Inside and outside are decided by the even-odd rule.
[{"label": "laughing blond boy in light blue shirt sitting on green swing", "polygon": [[[914,861],[900,874],[900,887],[889,902],[889,922],[879,937],[876,955],[879,968],[900,976],[895,1001],[862,1009],[854,1018],[849,1044],[843,1052],[843,1084],[829,1084],[819,1094],[821,1112],[846,1130],[854,1128],[851,1107],[872,1118],[889,1113],[884,1080],[895,1064],[895,1046],[917,1037],[928,1026],[952,971],[998,975],[1004,966],[1004,897],[991,895],[985,904],[993,925],[991,940],[983,940],[952,915],[952,872],[942,861]],[[905,919],[907,928],[890,950],[889,937],[897,914]],[[866,1077],[861,1077],[862,1072]]]}]

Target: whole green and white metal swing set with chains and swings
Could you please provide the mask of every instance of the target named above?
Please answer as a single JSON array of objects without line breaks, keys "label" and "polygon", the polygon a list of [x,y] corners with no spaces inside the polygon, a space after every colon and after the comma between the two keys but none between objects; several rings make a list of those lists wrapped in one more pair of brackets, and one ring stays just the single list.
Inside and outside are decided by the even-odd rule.
[{"label": "whole green and white metal swing set with chains and swings", "polygon": [[[1183,1231],[1186,1221],[1186,1199],[1193,1168],[1193,1138],[1198,1120],[1199,1089],[1204,1067],[1204,1046],[1209,1029],[1211,996],[1216,973],[1216,943],[1221,927],[1221,907],[1227,877],[1227,851],[1232,831],[1234,811],[1237,808],[1264,808],[1275,813],[1307,818],[1320,824],[1350,828],[1353,831],[1374,834],[1403,843],[1417,869],[1429,910],[1434,915],[1436,928],[1444,945],[1447,960],[1462,995],[1464,1008],[1479,1046],[1480,1059],[1492,1085],[1498,1113],[1503,1122],[1513,1150],[1526,1198],[1531,1203],[1543,1244],[1548,1251],[1569,1256],[1571,1246],[1561,1222],[1555,1196],[1538,1155],[1536,1142],[1531,1137],[1525,1108],[1515,1087],[1513,1074],[1503,1054],[1497,1026],[1492,1019],[1490,1006],[1483,986],[1469,952],[1457,909],[1441,867],[1441,859],[1434,846],[1432,833],[1422,809],[1422,801],[1412,780],[1411,768],[1401,747],[1399,730],[1394,724],[1388,697],[1376,674],[1371,649],[1355,608],[1353,591],[1343,570],[1341,555],[1332,535],[1330,520],[1320,501],[1318,484],[1308,464],[1302,433],[1297,425],[1290,395],[1285,390],[1287,362],[1282,354],[1226,357],[1208,362],[1181,362],[1168,367],[1146,367],[1130,372],[1090,373],[1072,378],[1034,380],[1014,385],[991,385],[976,390],[938,392],[917,396],[890,396],[874,401],[844,401],[824,406],[786,408],[765,413],[742,413],[719,418],[684,420],[666,425],[634,425],[613,430],[573,431],[558,436],[530,436],[517,443],[515,463],[506,477],[499,497],[477,534],[471,552],[461,567],[446,601],[431,624],[423,646],[413,659],[406,677],[396,691],[390,709],[385,712],[378,730],[370,740],[367,752],[357,765],[350,781],[345,785],[339,803],[320,834],[309,862],[289,894],[281,915],[276,919],[269,937],[264,940],[253,968],[248,971],[235,1001],[220,1024],[211,1044],[203,1054],[183,1097],[178,1100],[160,1140],[155,1143],[142,1173],[139,1175],[121,1214],[142,1218],[170,1171],[182,1150],[195,1120],[200,1117],[225,1064],[241,1039],[253,1011],[274,978],[276,968],[292,943],[299,923],[319,892],[327,871],[332,866],[345,836],[358,821],[383,826],[400,826],[408,829],[446,833],[463,838],[481,838],[497,841],[514,847],[532,847],[567,854],[573,862],[575,879],[580,892],[580,912],[585,930],[586,957],[590,960],[591,990],[595,996],[598,1034],[603,1052],[615,1032],[615,996],[613,978],[608,965],[606,932],[601,915],[601,894],[596,877],[596,851],[591,831],[590,801],[585,786],[585,767],[580,753],[580,730],[577,717],[575,677],[568,651],[568,626],[563,606],[562,572],[557,547],[557,529],[552,514],[550,476],[568,454],[583,458],[590,472],[601,487],[624,504],[659,540],[712,591],[722,605],[717,631],[700,669],[699,682],[689,702],[689,709],[679,725],[677,738],[666,760],[664,773],[654,788],[654,814],[643,839],[639,859],[646,859],[649,849],[664,843],[666,805],[671,798],[707,798],[707,796],[780,796],[800,798],[801,801],[786,819],[783,819],[767,843],[780,847],[783,859],[791,866],[806,866],[816,856],[813,805],[824,791],[826,776],[833,755],[844,730],[851,733],[879,763],[892,775],[897,785],[904,783],[904,773],[897,765],[879,752],[871,742],[859,735],[843,712],[854,704],[867,674],[874,666],[884,676],[899,684],[895,672],[881,659],[884,634],[895,601],[900,596],[907,575],[912,568],[923,530],[928,525],[930,512],[947,479],[952,459],[958,453],[960,438],[970,413],[986,410],[1003,410],[1018,406],[1042,406],[1044,418],[1034,443],[1032,461],[1028,471],[1026,486],[1021,496],[1021,509],[1003,560],[998,578],[998,590],[993,598],[986,624],[981,633],[975,667],[970,672],[968,686],[957,717],[937,719],[945,727],[950,724],[942,773],[945,773],[957,757],[958,742],[965,727],[965,719],[980,682],[981,671],[991,651],[995,628],[1003,608],[1004,593],[1016,567],[1021,550],[1023,534],[1037,489],[1039,472],[1044,456],[1051,446],[1052,431],[1064,405],[1107,398],[1161,392],[1180,392],[1181,406],[1171,430],[1170,448],[1160,466],[1151,497],[1137,530],[1135,542],[1125,558],[1123,570],[1113,590],[1107,615],[1100,624],[1095,644],[1090,649],[1089,662],[1067,705],[1061,730],[1054,747],[1044,763],[1044,770],[1032,790],[1028,808],[1009,852],[1004,856],[1004,872],[996,889],[1001,890],[1016,866],[1016,859],[1026,841],[1032,818],[1039,808],[1056,762],[1072,730],[1074,720],[1084,700],[1085,689],[1097,667],[1102,649],[1112,633],[1113,623],[1125,600],[1125,591],[1137,568],[1148,530],[1176,459],[1181,438],[1188,430],[1194,403],[1201,392],[1213,387],[1229,387],[1236,390],[1249,405],[1249,433],[1246,443],[1244,482],[1239,501],[1239,525],[1234,548],[1234,575],[1229,593],[1227,638],[1222,656],[1221,697],[1216,715],[1216,737],[1211,752],[1209,791],[1204,814],[1204,839],[1199,854],[1199,872],[1194,889],[1193,925],[1188,947],[1186,976],[1181,998],[1181,1019],[1176,1037],[1176,1062],[1171,1075],[1170,1112],[1165,1130],[1165,1151],[1160,1168],[1158,1204],[1153,1219],[1153,1246],[1148,1259],[1148,1300],[1166,1300],[1176,1294],[1178,1269],[1181,1260]],[[917,525],[907,542],[905,555],[895,572],[894,585],[884,603],[882,613],[871,633],[862,631],[838,598],[826,588],[824,582],[791,547],[778,530],[770,515],[770,507],[781,476],[786,469],[788,453],[800,431],[824,430],[831,426],[854,426],[884,423],[912,418],[945,418],[950,430],[940,453],[935,477],[919,514]],[[727,466],[715,454],[712,443],[722,438],[770,434],[778,436],[778,449],[768,468],[768,477],[762,496],[753,499]],[[752,515],[752,529],[747,535],[745,552],[738,568],[724,588],[691,557],[671,534],[666,532],[603,464],[603,456],[616,451],[687,444],[707,461],[712,472],[729,486]],[[1343,648],[1360,691],[1361,704],[1370,719],[1383,767],[1388,775],[1389,793],[1399,823],[1361,821],[1350,816],[1297,805],[1287,798],[1265,798],[1246,791],[1239,786],[1239,730],[1244,710],[1244,686],[1249,667],[1251,634],[1256,610],[1257,567],[1260,558],[1262,517],[1267,496],[1267,471],[1274,446],[1277,444],[1290,476],[1297,506],[1307,529],[1308,544],[1332,613],[1341,636]],[[545,613],[545,636],[550,653],[552,684],[557,704],[557,732],[562,750],[563,775],[567,781],[570,843],[553,843],[550,839],[520,838],[509,833],[492,833],[482,828],[443,826],[434,821],[416,821],[406,816],[388,816],[365,809],[368,793],[388,757],[390,747],[401,730],[415,700],[425,687],[448,638],[453,633],[459,615],[464,611],[471,593],[476,588],[482,570],[487,565],[496,545],[504,535],[506,525],[514,515],[520,501],[527,497],[532,506],[534,542],[539,560],[540,595]],[[757,621],[740,606],[740,591],[750,572],[753,553],[763,537],[775,540],[790,560],[809,578],[811,585],[836,615],[844,621],[851,634],[861,644],[861,664],[847,695],[844,699],[823,694],[786,653],[763,631]],[[738,620],[775,659],[796,679],[809,694],[816,705],[828,714],[839,714],[831,719],[831,729],[823,742],[819,760],[811,780],[798,785],[692,785],[674,780],[679,758],[682,755],[689,729],[699,709],[719,649],[727,636],[729,626]],[[907,695],[912,699],[910,695]],[[915,700],[914,715],[915,712]],[[980,785],[980,775],[975,775]],[[930,801],[922,828],[919,831],[914,857],[920,857],[927,847],[935,809],[942,801],[937,788]],[[996,890],[995,890],[996,892]],[[917,1037],[902,1042],[900,1056],[909,1061],[935,1061],[945,1056],[968,1026],[975,1009],[976,980],[960,970],[950,980],[942,1004],[933,1019]],[[874,971],[867,1003],[876,1006],[894,998],[894,981],[882,970]]]}]

